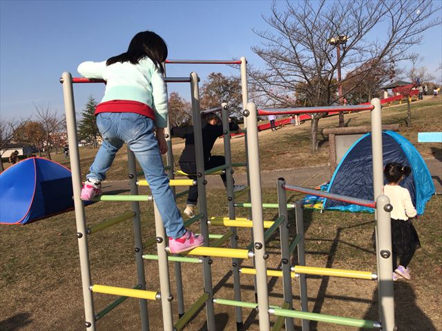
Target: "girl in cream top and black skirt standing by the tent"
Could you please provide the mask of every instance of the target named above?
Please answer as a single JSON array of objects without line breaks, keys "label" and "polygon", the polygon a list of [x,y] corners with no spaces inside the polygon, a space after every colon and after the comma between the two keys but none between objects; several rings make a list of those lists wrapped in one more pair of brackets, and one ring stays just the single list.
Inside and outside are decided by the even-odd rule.
[{"label": "girl in cream top and black skirt standing by the tent", "polygon": [[[383,192],[389,197],[393,206],[391,217],[394,281],[401,277],[410,279],[410,269],[407,266],[412,260],[416,248],[421,247],[419,236],[410,220],[417,214],[410,192],[399,185],[410,174],[411,168],[403,166],[401,163],[387,163],[384,168],[387,185],[383,187]],[[400,257],[399,265],[397,265],[398,256]]]}]

